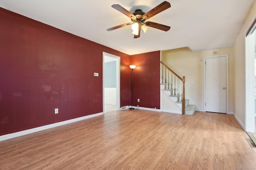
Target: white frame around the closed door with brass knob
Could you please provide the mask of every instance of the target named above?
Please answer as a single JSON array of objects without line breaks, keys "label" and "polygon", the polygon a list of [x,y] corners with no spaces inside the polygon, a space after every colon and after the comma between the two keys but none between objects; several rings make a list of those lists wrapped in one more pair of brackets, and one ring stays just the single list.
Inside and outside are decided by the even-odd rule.
[{"label": "white frame around the closed door with brass knob", "polygon": [[217,58],[217,57],[226,57],[226,114],[229,114],[229,107],[228,107],[228,54],[224,55],[214,55],[214,56],[208,56],[204,57],[204,111],[206,111],[206,67],[205,67],[205,62],[206,59],[209,58]]}]

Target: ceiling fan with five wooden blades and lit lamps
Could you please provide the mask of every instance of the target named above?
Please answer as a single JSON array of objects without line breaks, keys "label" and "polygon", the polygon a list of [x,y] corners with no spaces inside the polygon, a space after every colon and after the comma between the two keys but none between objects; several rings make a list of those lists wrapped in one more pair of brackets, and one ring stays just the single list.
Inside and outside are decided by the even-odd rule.
[{"label": "ceiling fan with five wooden blades and lit lamps", "polygon": [[115,8],[116,10],[118,10],[119,12],[122,12],[124,15],[128,16],[132,20],[132,23],[124,23],[122,25],[108,28],[107,31],[112,31],[117,28],[121,28],[121,27],[124,27],[127,25],[132,25],[132,30],[133,30],[132,33],[134,34],[134,38],[138,38],[138,37],[140,37],[140,29],[141,28],[143,29],[144,33],[146,33],[148,27],[153,27],[153,28],[160,29],[163,31],[168,31],[170,29],[169,26],[162,25],[160,23],[155,23],[155,22],[150,22],[150,21],[144,22],[145,20],[148,20],[152,16],[155,16],[156,14],[170,8],[171,4],[169,2],[166,2],[166,1],[162,2],[158,6],[156,6],[149,12],[147,12],[146,14],[144,12],[142,12],[142,10],[139,10],[139,9],[135,10],[135,12],[132,14],[128,10],[124,9],[122,6],[120,6],[118,4],[114,4],[114,5],[112,5],[112,7]]}]

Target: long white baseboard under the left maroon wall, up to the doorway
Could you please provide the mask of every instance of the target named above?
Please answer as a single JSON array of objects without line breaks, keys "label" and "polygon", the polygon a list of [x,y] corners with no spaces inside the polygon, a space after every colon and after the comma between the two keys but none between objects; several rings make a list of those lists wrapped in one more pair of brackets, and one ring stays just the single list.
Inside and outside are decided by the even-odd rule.
[{"label": "long white baseboard under the left maroon wall, up to the doorway", "polygon": [[32,129],[27,129],[27,130],[24,130],[24,131],[19,131],[19,132],[15,132],[15,133],[2,135],[2,136],[0,136],[0,141],[4,141],[4,140],[11,139],[11,138],[14,138],[14,137],[19,137],[19,136],[22,136],[22,135],[27,135],[27,134],[38,132],[38,131],[43,131],[43,130],[50,129],[50,128],[53,128],[53,127],[66,125],[68,123],[73,123],[73,122],[76,122],[76,121],[89,119],[89,118],[100,116],[100,115],[103,115],[103,112],[95,113],[95,114],[87,115],[87,116],[83,116],[83,117],[78,117],[78,118],[70,119],[70,120],[66,120],[66,121],[61,121],[61,122],[58,122],[58,123],[52,123],[50,125],[44,125],[44,126],[40,126],[40,127],[36,127],[36,128],[32,128]]}]

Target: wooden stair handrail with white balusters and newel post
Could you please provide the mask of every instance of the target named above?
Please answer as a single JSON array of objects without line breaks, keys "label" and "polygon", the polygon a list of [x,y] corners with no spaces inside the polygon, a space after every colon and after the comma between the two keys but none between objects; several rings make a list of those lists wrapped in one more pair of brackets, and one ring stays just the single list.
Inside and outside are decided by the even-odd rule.
[{"label": "wooden stair handrail with white balusters and newel post", "polygon": [[[162,83],[169,83],[169,86],[166,85],[166,88],[172,90],[172,95],[178,95],[178,86],[180,87],[179,90],[182,89],[182,101],[180,101],[179,98],[179,102],[182,102],[182,114],[185,114],[185,106],[186,106],[186,100],[185,100],[185,76],[183,76],[183,78],[181,78],[180,76],[178,76],[178,74],[176,74],[172,69],[170,69],[166,64],[164,64],[161,61],[162,64],[162,75],[163,75],[163,82]],[[179,80],[178,80],[179,79]],[[175,88],[171,88],[171,83],[176,86]],[[176,94],[175,94],[176,93]],[[181,91],[180,91],[181,93]]]}]

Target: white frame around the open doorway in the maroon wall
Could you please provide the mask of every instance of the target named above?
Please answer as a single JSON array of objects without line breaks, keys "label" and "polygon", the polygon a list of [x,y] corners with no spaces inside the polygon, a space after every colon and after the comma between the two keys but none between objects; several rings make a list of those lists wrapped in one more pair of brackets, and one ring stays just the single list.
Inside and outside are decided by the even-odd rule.
[{"label": "white frame around the open doorway in the maroon wall", "polygon": [[116,55],[112,55],[110,53],[103,52],[102,53],[102,105],[103,105],[103,114],[105,114],[105,109],[104,109],[104,57],[110,57],[116,59],[116,110],[120,110],[120,57]]}]

